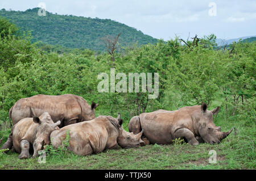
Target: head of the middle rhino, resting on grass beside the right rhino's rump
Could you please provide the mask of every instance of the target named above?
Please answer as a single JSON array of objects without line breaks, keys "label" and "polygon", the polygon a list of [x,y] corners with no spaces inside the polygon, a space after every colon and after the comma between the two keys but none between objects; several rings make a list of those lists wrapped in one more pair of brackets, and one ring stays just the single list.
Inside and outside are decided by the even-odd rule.
[{"label": "head of the middle rhino, resting on grass beside the right rhino's rump", "polygon": [[122,148],[133,148],[139,147],[142,145],[146,145],[144,141],[141,140],[141,136],[143,133],[143,129],[138,134],[134,134],[133,132],[127,132],[122,127],[123,120],[120,117],[120,114],[117,117],[118,120],[118,129],[119,129],[119,136],[117,138],[117,143]]}]

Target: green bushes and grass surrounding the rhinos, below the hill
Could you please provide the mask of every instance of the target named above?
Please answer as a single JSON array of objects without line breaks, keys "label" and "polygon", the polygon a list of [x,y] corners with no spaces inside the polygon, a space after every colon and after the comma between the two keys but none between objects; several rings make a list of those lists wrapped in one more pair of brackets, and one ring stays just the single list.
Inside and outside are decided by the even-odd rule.
[{"label": "green bushes and grass surrounding the rhinos, below the hill", "polygon": [[[188,41],[189,46],[178,39],[160,40],[156,44],[127,47],[116,53],[112,61],[108,53],[96,54],[88,49],[72,49],[63,54],[44,51],[31,43],[29,33],[20,33],[14,24],[3,18],[0,30],[0,136],[4,136],[4,141],[10,133],[8,112],[11,106],[20,98],[36,94],[83,96],[89,103],[100,104],[97,116],[116,117],[120,112],[126,130],[131,117],[139,113],[160,108],[176,110],[201,102],[209,104],[209,109],[221,106],[214,121],[222,131],[236,127],[236,131],[219,145],[202,144],[193,148],[189,145],[149,145],[109,150],[85,158],[72,154],[49,155],[47,165],[39,165],[31,159],[17,162],[16,153],[0,153],[0,167],[255,169],[255,41],[240,42],[224,50],[216,49],[214,35],[205,36],[196,44]],[[97,76],[102,72],[110,74],[110,68],[127,77],[129,73],[159,73],[158,98],[148,99],[150,93],[141,91],[98,92],[101,80]],[[208,164],[210,149],[217,151],[218,165]]]}]

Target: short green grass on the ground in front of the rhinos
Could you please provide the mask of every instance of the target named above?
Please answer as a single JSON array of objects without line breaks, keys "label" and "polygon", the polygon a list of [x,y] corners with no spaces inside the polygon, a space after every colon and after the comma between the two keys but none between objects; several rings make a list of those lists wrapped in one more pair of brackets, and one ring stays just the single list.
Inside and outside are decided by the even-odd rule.
[{"label": "short green grass on the ground in front of the rhinos", "polygon": [[[237,117],[218,116],[222,131],[236,127],[236,132],[221,144],[147,145],[133,149],[106,150],[81,157],[67,152],[48,154],[46,163],[38,159],[18,159],[18,153],[0,153],[0,169],[255,169],[255,123]],[[127,128],[126,128],[127,129]],[[0,132],[7,138],[7,131]],[[209,163],[210,150],[217,153],[217,163]]]}]

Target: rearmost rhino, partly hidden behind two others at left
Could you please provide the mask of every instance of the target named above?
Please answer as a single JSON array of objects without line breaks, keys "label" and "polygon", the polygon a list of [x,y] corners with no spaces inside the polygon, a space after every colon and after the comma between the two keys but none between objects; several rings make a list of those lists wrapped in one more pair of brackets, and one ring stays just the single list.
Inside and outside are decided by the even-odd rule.
[{"label": "rearmost rhino, partly hidden behind two others at left", "polygon": [[25,117],[40,116],[43,112],[51,115],[53,122],[61,121],[60,127],[92,120],[96,117],[96,103],[92,105],[78,95],[34,95],[19,99],[9,111],[13,125]]}]

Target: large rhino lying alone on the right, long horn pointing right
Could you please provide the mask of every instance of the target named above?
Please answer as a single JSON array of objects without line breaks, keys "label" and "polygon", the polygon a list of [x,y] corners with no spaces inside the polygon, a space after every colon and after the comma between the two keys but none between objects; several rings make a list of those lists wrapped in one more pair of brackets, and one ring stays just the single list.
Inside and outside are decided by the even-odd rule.
[{"label": "large rhino lying alone on the right, long horn pointing right", "polygon": [[220,143],[233,130],[221,132],[213,123],[220,107],[207,110],[207,104],[188,106],[176,111],[158,110],[141,113],[129,122],[129,131],[138,133],[144,129],[142,140],[146,144],[172,144],[176,138],[184,138],[191,145],[200,142]]}]

